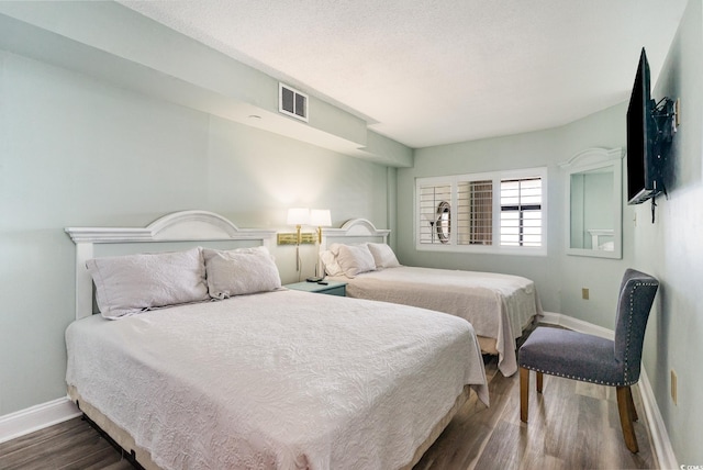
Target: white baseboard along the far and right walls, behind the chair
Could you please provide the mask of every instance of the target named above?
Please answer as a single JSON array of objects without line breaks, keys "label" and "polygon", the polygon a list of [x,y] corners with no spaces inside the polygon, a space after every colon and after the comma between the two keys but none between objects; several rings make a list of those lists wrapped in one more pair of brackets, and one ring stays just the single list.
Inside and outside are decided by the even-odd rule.
[{"label": "white baseboard along the far and right walls, behind the chair", "polygon": [[[600,336],[602,338],[613,339],[615,332],[612,329],[603,328],[602,326],[593,325],[582,320],[572,318],[570,316],[562,315],[560,313],[545,312],[542,318],[543,323],[550,325],[559,325],[574,332],[588,333],[590,335]],[[647,371],[644,367],[640,368],[639,394],[641,396],[643,405],[645,407],[645,414],[647,415],[647,423],[649,424],[649,436],[651,437],[651,446],[654,447],[655,458],[659,462],[660,469],[674,469],[679,468],[677,463],[677,457],[673,454],[673,447],[669,439],[669,433],[663,424],[661,412],[657,405]]]}]

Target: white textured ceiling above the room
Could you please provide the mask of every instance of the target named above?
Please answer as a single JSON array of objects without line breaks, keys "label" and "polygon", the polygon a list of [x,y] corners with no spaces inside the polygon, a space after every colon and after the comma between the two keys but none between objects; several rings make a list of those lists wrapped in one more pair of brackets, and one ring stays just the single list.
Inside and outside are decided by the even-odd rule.
[{"label": "white textured ceiling above the room", "polygon": [[659,74],[687,0],[120,3],[427,147],[548,128]]}]

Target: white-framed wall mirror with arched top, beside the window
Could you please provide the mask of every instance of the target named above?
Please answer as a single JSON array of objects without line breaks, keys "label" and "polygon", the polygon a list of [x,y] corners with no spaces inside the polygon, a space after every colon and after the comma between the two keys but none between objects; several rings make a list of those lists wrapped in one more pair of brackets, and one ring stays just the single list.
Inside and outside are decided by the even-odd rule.
[{"label": "white-framed wall mirror with arched top, beside the window", "polygon": [[623,149],[589,148],[559,166],[569,197],[568,255],[623,257]]}]

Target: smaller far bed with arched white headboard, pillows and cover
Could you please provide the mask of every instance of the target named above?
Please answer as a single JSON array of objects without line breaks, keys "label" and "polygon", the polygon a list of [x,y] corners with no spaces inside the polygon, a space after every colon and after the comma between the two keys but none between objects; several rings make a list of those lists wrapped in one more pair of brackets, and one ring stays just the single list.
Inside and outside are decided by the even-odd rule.
[{"label": "smaller far bed with arched white headboard, pillows and cover", "polygon": [[515,339],[542,314],[532,280],[511,275],[401,266],[389,230],[365,219],[323,233],[321,261],[347,295],[420,306],[468,320],[481,349],[499,356],[504,376],[517,370]]}]

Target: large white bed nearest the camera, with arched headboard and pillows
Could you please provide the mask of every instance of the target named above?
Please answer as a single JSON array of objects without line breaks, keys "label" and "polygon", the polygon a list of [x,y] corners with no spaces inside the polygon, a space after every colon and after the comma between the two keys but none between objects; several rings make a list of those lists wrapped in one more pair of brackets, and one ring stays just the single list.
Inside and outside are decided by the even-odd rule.
[{"label": "large white bed nearest the camera, with arched headboard and pillows", "polygon": [[186,211],[66,232],[69,396],[145,468],[406,468],[470,390],[488,404],[467,322],[281,289],[272,231]]}]

